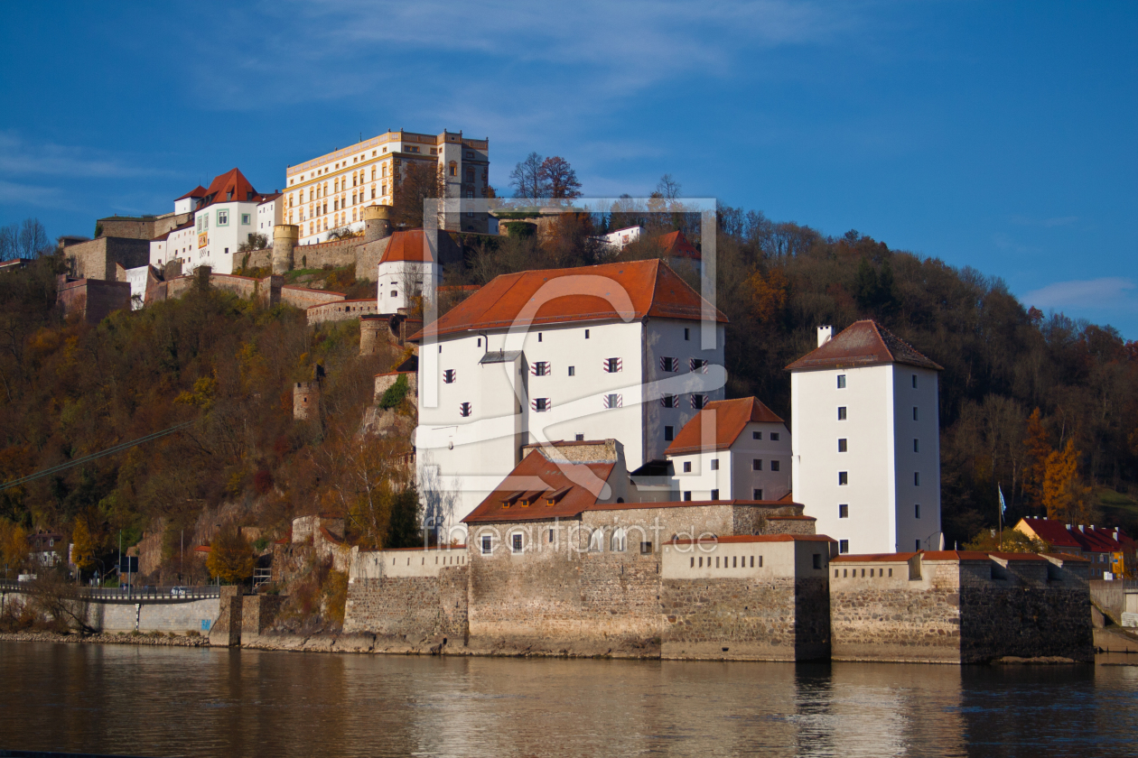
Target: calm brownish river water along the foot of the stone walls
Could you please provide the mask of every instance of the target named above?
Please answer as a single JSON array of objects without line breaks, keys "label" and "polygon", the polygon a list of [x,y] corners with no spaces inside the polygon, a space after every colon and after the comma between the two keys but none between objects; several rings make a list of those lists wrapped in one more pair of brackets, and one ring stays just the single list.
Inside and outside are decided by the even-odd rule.
[{"label": "calm brownish river water along the foot of the stone walls", "polygon": [[138,756],[1138,756],[1138,667],[0,642],[0,748]]}]

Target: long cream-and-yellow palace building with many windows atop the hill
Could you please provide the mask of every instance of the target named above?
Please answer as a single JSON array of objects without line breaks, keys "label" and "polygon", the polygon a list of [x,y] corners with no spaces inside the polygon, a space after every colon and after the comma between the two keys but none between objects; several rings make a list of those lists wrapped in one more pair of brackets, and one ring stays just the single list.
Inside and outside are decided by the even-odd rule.
[{"label": "long cream-and-yellow palace building with many windows atop the hill", "polygon": [[[462,133],[387,132],[297,166],[286,174],[281,219],[300,227],[300,244],[325,242],[329,232],[363,230],[363,208],[393,205],[394,184],[410,161],[430,161],[446,177],[448,198],[486,198],[489,141]],[[487,214],[452,214],[444,226],[486,232]]]}]

